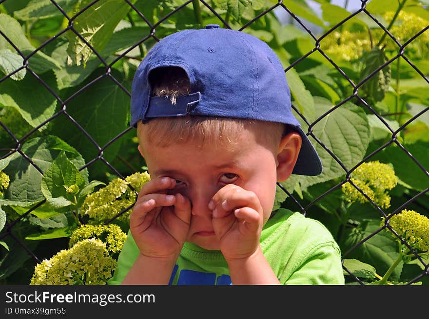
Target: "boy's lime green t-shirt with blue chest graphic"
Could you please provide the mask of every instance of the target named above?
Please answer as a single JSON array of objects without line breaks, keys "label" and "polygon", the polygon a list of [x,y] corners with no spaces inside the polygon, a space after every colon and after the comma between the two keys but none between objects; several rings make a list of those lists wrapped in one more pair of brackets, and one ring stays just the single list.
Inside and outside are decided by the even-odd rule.
[{"label": "boy's lime green t-shirt with blue chest graphic", "polygon": [[[344,284],[340,248],[329,230],[316,220],[281,208],[264,225],[260,243],[282,284]],[[108,284],[120,284],[138,254],[139,249],[129,232]],[[232,283],[228,264],[220,251],[186,242],[170,284]]]}]

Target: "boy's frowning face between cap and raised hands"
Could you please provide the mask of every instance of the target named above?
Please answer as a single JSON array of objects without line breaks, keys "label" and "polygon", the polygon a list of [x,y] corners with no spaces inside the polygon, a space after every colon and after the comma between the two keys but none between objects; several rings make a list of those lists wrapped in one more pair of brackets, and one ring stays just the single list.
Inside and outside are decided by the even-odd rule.
[{"label": "boy's frowning face between cap and raised hands", "polygon": [[180,193],[191,201],[191,225],[186,241],[219,250],[208,205],[216,192],[228,184],[253,191],[264,213],[264,224],[270,217],[276,189],[276,154],[258,144],[254,133],[243,130],[236,144],[225,148],[199,146],[195,141],[156,146],[143,141],[141,153],[151,179],[171,177],[177,180],[170,194]]}]

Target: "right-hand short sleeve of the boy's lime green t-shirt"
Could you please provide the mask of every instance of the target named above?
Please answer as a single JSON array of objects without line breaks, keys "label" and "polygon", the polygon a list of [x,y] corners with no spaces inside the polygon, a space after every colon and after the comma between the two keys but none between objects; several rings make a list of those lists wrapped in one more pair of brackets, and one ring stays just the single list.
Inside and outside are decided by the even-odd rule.
[{"label": "right-hand short sleeve of the boy's lime green t-shirt", "polygon": [[335,243],[315,246],[303,260],[284,284],[344,284],[341,255]]}]

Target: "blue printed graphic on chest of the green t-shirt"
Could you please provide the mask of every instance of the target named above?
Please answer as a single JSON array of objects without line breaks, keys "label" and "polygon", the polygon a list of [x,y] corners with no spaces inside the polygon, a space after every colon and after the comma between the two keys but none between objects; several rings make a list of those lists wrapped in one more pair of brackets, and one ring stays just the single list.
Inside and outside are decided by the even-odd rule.
[{"label": "blue printed graphic on chest of the green t-shirt", "polygon": [[[175,265],[169,284],[173,283],[176,276],[178,265]],[[230,285],[232,284],[231,277],[228,275],[220,275],[217,277],[215,273],[206,273],[189,269],[182,269],[179,272],[177,279],[178,285]]]}]

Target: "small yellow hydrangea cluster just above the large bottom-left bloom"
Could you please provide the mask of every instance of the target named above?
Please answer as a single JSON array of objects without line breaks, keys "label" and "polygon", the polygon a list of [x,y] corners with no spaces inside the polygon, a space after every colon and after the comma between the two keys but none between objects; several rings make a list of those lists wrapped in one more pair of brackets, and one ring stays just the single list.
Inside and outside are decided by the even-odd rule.
[{"label": "small yellow hydrangea cluster just above the large bottom-left bloom", "polygon": [[74,246],[84,239],[96,238],[106,243],[106,249],[110,255],[118,254],[125,240],[125,234],[118,225],[81,225],[76,228],[70,237],[69,247]]}]

